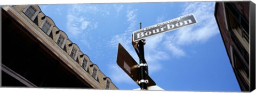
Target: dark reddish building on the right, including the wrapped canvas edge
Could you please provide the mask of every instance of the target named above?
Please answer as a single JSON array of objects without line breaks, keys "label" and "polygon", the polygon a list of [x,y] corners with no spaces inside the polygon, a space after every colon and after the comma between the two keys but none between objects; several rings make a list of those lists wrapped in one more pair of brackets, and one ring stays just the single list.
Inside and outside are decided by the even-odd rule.
[{"label": "dark reddish building on the right, including the wrapped canvas edge", "polygon": [[254,90],[255,4],[217,2],[214,15],[241,90]]}]

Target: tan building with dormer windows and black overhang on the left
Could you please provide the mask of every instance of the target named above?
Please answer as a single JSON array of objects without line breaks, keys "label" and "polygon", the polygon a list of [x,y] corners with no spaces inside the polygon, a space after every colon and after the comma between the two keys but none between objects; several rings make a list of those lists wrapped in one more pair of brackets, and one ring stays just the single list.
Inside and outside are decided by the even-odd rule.
[{"label": "tan building with dormer windows and black overhang on the left", "polygon": [[118,89],[38,5],[4,5],[2,87]]}]

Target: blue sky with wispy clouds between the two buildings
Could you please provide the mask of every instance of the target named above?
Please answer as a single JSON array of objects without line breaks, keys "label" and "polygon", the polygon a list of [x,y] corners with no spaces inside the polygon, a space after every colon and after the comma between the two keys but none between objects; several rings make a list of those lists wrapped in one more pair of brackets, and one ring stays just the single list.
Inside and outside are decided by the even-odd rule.
[{"label": "blue sky with wispy clouds between the two buildings", "polygon": [[39,5],[122,90],[139,86],[117,66],[117,47],[138,62],[132,32],[193,13],[197,24],[146,38],[149,76],[170,91],[241,91],[214,18],[215,2]]}]

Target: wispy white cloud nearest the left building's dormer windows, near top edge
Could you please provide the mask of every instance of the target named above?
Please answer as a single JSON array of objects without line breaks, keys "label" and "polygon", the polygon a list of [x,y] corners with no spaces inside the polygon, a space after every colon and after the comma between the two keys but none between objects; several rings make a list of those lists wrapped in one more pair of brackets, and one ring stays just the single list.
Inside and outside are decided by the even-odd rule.
[{"label": "wispy white cloud nearest the left building's dormer windows, near top edge", "polygon": [[68,33],[71,34],[70,37],[77,38],[79,34],[97,29],[99,23],[94,22],[91,15],[106,16],[110,14],[109,11],[110,8],[107,6],[98,7],[93,4],[70,5],[67,15],[67,30]]}]

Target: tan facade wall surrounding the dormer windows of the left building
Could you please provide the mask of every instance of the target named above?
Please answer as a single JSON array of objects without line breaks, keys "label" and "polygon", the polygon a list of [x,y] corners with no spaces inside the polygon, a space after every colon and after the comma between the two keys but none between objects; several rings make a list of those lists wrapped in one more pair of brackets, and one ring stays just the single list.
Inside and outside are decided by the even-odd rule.
[{"label": "tan facade wall surrounding the dormer windows of the left building", "polygon": [[[32,5],[33,7],[35,7],[38,11],[40,11],[37,15],[37,17],[35,18],[35,20],[38,21],[38,24],[34,23],[33,20],[31,20],[24,12],[23,10],[25,10],[25,8],[29,6],[29,5],[6,5],[6,6],[2,6],[2,8],[4,8],[5,11],[7,11],[8,13],[10,13],[12,16],[17,17],[17,20],[21,23],[23,23],[23,25],[30,25],[30,26],[25,26],[28,27],[28,29],[30,29],[30,31],[34,31],[33,33],[37,34],[35,35],[38,39],[41,39],[41,41],[47,42],[49,43],[49,45],[51,46],[51,49],[56,50],[57,52],[54,52],[56,55],[59,55],[60,58],[63,58],[63,61],[66,61],[68,63],[68,66],[70,68],[73,68],[74,71],[77,71],[77,74],[80,75],[82,78],[89,80],[92,85],[96,85],[96,86],[100,86],[100,87],[94,87],[94,88],[98,88],[98,89],[105,89],[106,87],[106,80],[104,78],[107,78],[106,75],[104,75],[99,67],[92,63],[92,61],[89,59],[89,57],[85,57],[86,60],[89,62],[88,63],[88,68],[89,71],[85,71],[82,68],[82,60],[84,58],[84,56],[87,56],[86,54],[84,54],[81,50],[79,50],[79,47],[73,43],[72,41],[70,41],[69,39],[67,39],[66,43],[65,43],[65,48],[61,48],[57,42],[55,42],[58,39],[58,34],[62,33],[65,34],[65,32],[59,30],[59,28],[57,27],[57,24],[54,24],[54,22],[52,21],[52,19],[45,15],[39,8],[38,5]],[[47,18],[47,21],[50,21],[51,25],[53,26],[52,29],[52,38],[49,34],[45,33],[42,29],[41,29],[41,25],[43,24],[45,18]],[[67,37],[68,38],[68,37]],[[72,48],[77,47],[77,60],[71,58],[70,51]],[[65,50],[66,49],[66,50]],[[73,62],[73,63],[69,63],[69,62]],[[75,67],[75,68],[74,68]],[[97,67],[98,68],[98,80],[94,79],[92,77],[92,71],[93,68]],[[111,81],[111,80],[110,80]],[[110,89],[118,89],[113,82],[110,82]]]}]

